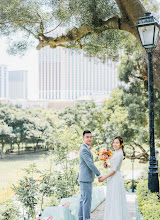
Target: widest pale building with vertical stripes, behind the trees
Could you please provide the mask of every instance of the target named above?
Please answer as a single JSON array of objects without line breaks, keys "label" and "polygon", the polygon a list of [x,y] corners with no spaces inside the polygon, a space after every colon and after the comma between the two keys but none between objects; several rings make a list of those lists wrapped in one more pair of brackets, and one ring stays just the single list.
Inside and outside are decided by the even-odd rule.
[{"label": "widest pale building with vertical stripes, behind the trees", "polygon": [[88,58],[84,52],[45,47],[39,52],[39,98],[72,100],[83,96],[108,96],[121,84],[119,61]]}]

